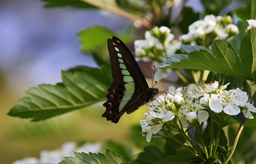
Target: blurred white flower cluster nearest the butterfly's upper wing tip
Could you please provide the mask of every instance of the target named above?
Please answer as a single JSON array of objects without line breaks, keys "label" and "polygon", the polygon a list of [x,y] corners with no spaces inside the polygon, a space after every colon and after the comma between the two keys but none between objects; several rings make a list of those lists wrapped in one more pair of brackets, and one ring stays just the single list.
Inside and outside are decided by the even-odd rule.
[{"label": "blurred white flower cluster nearest the butterfly's upper wing tip", "polygon": [[174,39],[170,28],[162,26],[146,31],[145,40],[136,40],[134,46],[137,57],[162,63],[168,55],[180,49],[181,43]]}]

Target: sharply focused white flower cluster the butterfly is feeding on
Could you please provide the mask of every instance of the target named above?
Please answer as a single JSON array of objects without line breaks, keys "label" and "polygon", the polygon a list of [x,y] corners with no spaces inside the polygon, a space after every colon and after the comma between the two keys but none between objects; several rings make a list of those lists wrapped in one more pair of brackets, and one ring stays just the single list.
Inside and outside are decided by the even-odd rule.
[{"label": "sharply focused white flower cluster the butterfly is feeding on", "polygon": [[[241,89],[226,90],[218,81],[210,84],[189,84],[184,88],[170,87],[168,92],[150,102],[147,118],[141,120],[142,134],[147,141],[152,135],[161,136],[163,127],[180,122],[180,128],[191,127],[196,123],[206,123],[212,113],[224,116],[241,112],[245,118],[252,119],[256,108],[249,101],[246,92]],[[176,118],[176,119],[175,119]],[[231,117],[229,117],[231,118]],[[169,126],[170,127],[170,126]]]}]

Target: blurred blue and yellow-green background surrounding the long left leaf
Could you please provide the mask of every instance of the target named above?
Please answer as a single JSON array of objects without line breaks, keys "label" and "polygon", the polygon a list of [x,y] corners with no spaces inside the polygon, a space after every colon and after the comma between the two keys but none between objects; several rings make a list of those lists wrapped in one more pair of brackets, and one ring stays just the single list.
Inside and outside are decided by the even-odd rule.
[{"label": "blurred blue and yellow-green background surrounding the long left leaf", "polygon": [[124,140],[123,126],[133,123],[106,122],[101,104],[36,123],[6,114],[28,88],[61,82],[61,70],[97,66],[80,52],[77,32],[96,24],[118,32],[127,23],[98,10],[49,9],[39,0],[0,1],[0,163],[38,157],[40,150],[65,141]]}]

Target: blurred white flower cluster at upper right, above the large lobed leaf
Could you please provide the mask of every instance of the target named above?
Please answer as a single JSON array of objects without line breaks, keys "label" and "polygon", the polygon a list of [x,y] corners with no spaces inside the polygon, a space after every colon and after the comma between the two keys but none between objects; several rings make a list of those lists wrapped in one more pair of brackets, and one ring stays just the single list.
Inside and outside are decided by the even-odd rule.
[{"label": "blurred white flower cluster at upper right, above the large lobed leaf", "polygon": [[188,27],[188,33],[180,36],[183,44],[197,44],[205,40],[205,36],[210,38],[225,39],[234,34],[238,34],[239,30],[236,25],[232,24],[231,16],[214,16],[206,15],[203,20],[197,20]]}]

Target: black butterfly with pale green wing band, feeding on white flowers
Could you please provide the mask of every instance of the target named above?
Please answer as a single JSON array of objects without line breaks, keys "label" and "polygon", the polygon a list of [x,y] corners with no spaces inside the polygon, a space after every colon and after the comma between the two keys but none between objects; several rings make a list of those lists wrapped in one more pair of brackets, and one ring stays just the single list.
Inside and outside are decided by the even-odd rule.
[{"label": "black butterfly with pale green wing band, feeding on white flowers", "polygon": [[125,112],[133,113],[154,98],[158,89],[148,87],[133,54],[119,38],[108,39],[108,50],[114,81],[108,89],[108,100],[103,104],[106,111],[102,117],[118,123]]}]

